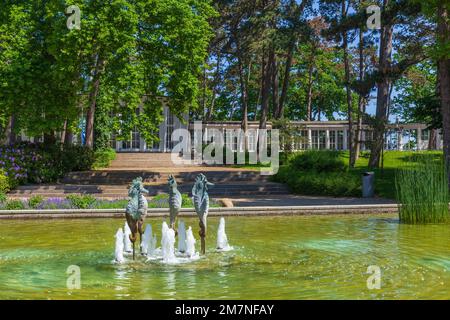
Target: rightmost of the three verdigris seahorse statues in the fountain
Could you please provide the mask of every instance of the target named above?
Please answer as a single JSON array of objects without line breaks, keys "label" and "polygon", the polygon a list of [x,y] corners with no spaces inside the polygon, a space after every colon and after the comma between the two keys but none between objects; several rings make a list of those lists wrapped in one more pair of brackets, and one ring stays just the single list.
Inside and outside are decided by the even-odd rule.
[{"label": "rightmost of the three verdigris seahorse statues in the fountain", "polygon": [[214,184],[208,182],[206,176],[200,173],[195,178],[195,184],[194,187],[192,188],[192,202],[194,203],[195,212],[197,213],[200,219],[199,235],[201,238],[202,254],[205,254],[206,252],[205,238],[207,227],[206,219],[208,218],[208,210],[209,210],[209,196],[208,196],[209,186],[214,186]]}]

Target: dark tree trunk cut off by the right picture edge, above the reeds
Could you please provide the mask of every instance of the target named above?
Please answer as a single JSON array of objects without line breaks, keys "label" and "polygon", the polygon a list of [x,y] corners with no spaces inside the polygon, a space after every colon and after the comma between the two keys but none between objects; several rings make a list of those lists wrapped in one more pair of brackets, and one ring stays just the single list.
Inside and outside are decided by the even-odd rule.
[{"label": "dark tree trunk cut off by the right picture edge, above the reeds", "polygon": [[[450,42],[449,12],[444,1],[438,5],[438,38],[443,44]],[[443,150],[445,164],[448,170],[448,184],[450,188],[450,59],[448,53],[438,61],[438,79],[441,98]]]}]

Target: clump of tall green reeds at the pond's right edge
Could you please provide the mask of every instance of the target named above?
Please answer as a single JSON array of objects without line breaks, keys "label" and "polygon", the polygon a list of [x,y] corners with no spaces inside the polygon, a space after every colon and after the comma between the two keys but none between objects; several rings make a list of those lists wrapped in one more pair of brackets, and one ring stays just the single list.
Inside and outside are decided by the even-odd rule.
[{"label": "clump of tall green reeds at the pond's right edge", "polygon": [[399,169],[395,187],[401,222],[423,224],[450,220],[447,173],[442,158],[424,157]]}]

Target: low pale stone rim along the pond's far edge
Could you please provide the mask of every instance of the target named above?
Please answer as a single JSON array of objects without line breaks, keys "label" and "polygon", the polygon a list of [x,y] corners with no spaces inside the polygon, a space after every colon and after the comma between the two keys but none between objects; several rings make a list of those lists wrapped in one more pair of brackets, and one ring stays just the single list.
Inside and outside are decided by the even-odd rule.
[{"label": "low pale stone rim along the pond's far edge", "polygon": [[[397,213],[396,204],[366,205],[320,205],[279,207],[234,207],[211,208],[209,216],[279,216],[279,215],[331,215],[331,214],[374,214]],[[123,218],[124,209],[79,209],[79,210],[0,210],[1,219],[84,219]],[[148,209],[147,217],[167,217],[168,208]],[[183,208],[181,217],[196,216],[193,208]]]}]

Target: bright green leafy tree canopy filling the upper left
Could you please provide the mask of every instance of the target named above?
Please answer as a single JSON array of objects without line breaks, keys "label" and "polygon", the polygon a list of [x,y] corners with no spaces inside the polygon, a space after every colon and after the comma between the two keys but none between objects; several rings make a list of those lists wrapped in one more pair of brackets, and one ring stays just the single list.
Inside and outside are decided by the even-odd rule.
[{"label": "bright green leafy tree canopy filling the upper left", "polygon": [[154,140],[161,96],[170,98],[177,115],[195,108],[212,37],[208,20],[215,11],[210,1],[75,4],[81,10],[81,30],[66,27],[64,1],[2,4],[1,128],[15,115],[15,131],[24,129],[29,136],[61,132],[65,123],[74,131],[80,116],[96,105],[98,150],[107,146],[113,130],[125,139],[136,127],[147,142]]}]

